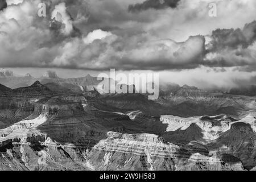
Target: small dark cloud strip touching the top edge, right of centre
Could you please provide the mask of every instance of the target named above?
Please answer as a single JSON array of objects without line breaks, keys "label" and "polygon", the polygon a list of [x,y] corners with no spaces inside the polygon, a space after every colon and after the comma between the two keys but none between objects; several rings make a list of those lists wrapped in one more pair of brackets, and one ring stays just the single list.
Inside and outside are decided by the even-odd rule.
[{"label": "small dark cloud strip touching the top edge, right of centre", "polygon": [[175,8],[177,7],[180,0],[147,0],[143,3],[137,3],[135,5],[129,5],[128,11],[137,12],[148,9],[165,9],[166,7]]}]

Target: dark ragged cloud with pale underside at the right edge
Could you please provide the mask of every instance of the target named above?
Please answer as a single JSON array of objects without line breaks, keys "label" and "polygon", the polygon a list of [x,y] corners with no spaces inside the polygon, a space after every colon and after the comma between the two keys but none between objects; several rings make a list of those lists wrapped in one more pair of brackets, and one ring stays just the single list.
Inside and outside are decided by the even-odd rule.
[{"label": "dark ragged cloud with pale underside at the right edge", "polygon": [[[247,67],[256,65],[256,21],[245,24],[243,29],[217,29],[212,32],[207,45],[205,64],[221,67]],[[245,70],[244,68],[240,68]]]}]

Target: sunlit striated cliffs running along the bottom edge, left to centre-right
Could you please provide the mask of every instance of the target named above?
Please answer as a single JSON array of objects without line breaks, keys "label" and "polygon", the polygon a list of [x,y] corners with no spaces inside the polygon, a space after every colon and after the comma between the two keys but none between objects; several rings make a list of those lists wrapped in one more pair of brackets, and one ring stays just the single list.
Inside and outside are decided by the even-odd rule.
[{"label": "sunlit striated cliffs running along the bottom edge, left to centre-right", "polygon": [[[30,129],[32,130],[32,129]],[[58,135],[58,134],[56,134]],[[65,133],[60,138],[74,138]],[[0,149],[1,169],[12,170],[242,170],[238,159],[193,154],[157,135],[88,131],[80,145],[61,144],[42,133],[13,138]]]}]

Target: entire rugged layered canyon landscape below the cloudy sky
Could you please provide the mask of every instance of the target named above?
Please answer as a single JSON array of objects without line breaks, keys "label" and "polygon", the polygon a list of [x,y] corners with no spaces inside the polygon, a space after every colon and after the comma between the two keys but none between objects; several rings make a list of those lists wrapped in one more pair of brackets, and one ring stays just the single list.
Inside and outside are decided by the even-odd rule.
[{"label": "entire rugged layered canyon landscape below the cloudy sky", "polygon": [[46,76],[55,81],[0,85],[0,170],[256,166],[254,97],[170,85],[152,101],[147,94],[81,89],[97,84],[90,76],[65,83]]}]

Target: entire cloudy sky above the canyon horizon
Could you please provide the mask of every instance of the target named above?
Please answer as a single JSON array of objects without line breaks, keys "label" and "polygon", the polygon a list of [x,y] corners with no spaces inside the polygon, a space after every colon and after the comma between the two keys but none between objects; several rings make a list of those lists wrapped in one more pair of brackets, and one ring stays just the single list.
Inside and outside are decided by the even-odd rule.
[{"label": "entire cloudy sky above the canyon horizon", "polygon": [[199,88],[254,84],[255,12],[254,0],[0,0],[0,68],[35,77],[48,69],[61,77],[155,72]]}]

